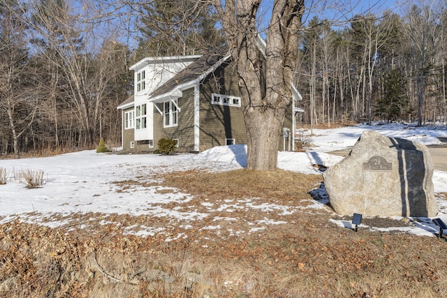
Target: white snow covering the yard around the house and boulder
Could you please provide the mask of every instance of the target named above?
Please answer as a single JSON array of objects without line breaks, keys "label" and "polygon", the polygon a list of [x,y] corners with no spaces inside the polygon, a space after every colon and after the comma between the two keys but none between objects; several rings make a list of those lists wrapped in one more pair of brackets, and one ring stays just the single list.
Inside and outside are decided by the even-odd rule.
[{"label": "white snow covering the yard around the house and boulder", "polygon": [[[306,141],[313,144],[312,148],[307,152],[279,152],[278,165],[284,170],[294,172],[320,173],[314,164],[334,165],[342,157],[327,152],[348,149],[366,130],[416,140],[423,144],[439,144],[438,137],[447,137],[446,127],[406,128],[401,124],[314,129],[313,135],[310,135],[310,131],[304,132]],[[156,182],[156,178],[151,178],[156,175],[152,174],[191,169],[235,170],[244,167],[246,162],[247,154],[243,145],[215,147],[200,154],[176,156],[96,154],[95,151],[80,151],[47,158],[0,160],[0,167],[6,169],[8,174],[8,183],[0,185],[0,223],[20,218],[22,221],[57,226],[63,224],[57,218],[87,212],[200,220],[207,214],[195,211],[176,212],[160,207],[161,202],[187,203],[192,200],[191,195],[187,193],[163,186],[135,186],[133,191],[123,193],[119,191],[116,182],[131,179],[142,179],[146,182],[151,182],[149,180],[152,179]],[[45,184],[41,188],[26,188],[24,181],[18,179],[21,170],[43,171]],[[447,192],[447,172],[435,171],[433,180],[436,193]],[[447,202],[440,198],[438,207],[437,217],[447,222]],[[341,221],[335,223],[344,225]],[[407,228],[404,232],[432,236],[437,232],[437,227],[425,218],[420,224]]]}]

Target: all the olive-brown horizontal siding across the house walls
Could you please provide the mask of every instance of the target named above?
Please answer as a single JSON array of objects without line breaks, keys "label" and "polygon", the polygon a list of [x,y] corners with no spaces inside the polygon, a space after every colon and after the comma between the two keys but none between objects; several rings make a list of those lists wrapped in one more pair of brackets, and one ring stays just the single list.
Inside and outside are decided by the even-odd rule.
[{"label": "all the olive-brown horizontal siding across the house walls", "polygon": [[[259,52],[261,58],[261,68],[265,67],[265,59],[263,54]],[[198,72],[196,72],[198,73]],[[261,89],[265,92],[265,72],[261,71]],[[177,82],[177,81],[176,81]],[[178,84],[178,82],[177,82]],[[210,75],[205,77],[198,86],[198,112],[199,119],[195,122],[194,115],[194,89],[192,84],[196,84],[196,81],[191,81],[191,87],[189,89],[182,90],[182,97],[178,98],[177,105],[179,106],[179,112],[177,113],[177,126],[163,127],[163,103],[153,103],[158,107],[153,107],[153,122],[148,123],[148,126],[153,126],[153,144],[154,148],[149,148],[147,142],[149,140],[134,141],[135,137],[138,137],[138,133],[135,135],[134,129],[124,129],[124,121],[122,123],[122,147],[125,151],[154,151],[158,149],[158,142],[161,138],[171,138],[179,140],[179,148],[177,151],[189,152],[189,151],[204,151],[215,146],[221,146],[226,144],[226,139],[234,139],[236,144],[247,144],[247,131],[245,128],[244,116],[242,113],[242,107],[235,107],[230,105],[216,105],[212,103],[212,94],[221,94],[226,96],[240,97],[237,73],[232,61],[223,62],[217,67]],[[186,84],[182,85],[186,86]],[[164,93],[163,93],[164,94]],[[161,94],[163,96],[163,94]],[[262,94],[265,96],[265,93]],[[129,98],[130,99],[130,98]],[[128,100],[129,100],[128,99]],[[147,98],[150,100],[150,98]],[[154,98],[154,100],[160,100],[160,98]],[[166,99],[168,100],[168,99]],[[241,98],[243,100],[243,98]],[[129,106],[129,105],[123,105]],[[122,117],[124,119],[125,112],[133,110],[133,107],[129,107],[126,110],[122,110]],[[151,109],[152,110],[152,109]],[[161,111],[161,114],[159,112]],[[286,112],[283,127],[290,128],[293,132],[293,106],[290,105]],[[197,120],[197,119],[196,119]],[[195,124],[197,125],[195,127]],[[195,133],[198,134],[198,144],[195,144]],[[286,139],[286,147],[284,148],[283,130],[278,131],[279,144],[278,149],[280,151],[289,149],[289,141]],[[147,135],[152,137],[152,135]],[[197,135],[196,135],[197,137]],[[291,135],[289,135],[291,137]],[[141,137],[144,139],[145,137]],[[134,142],[134,148],[131,149],[131,142]],[[196,146],[195,146],[196,145]],[[198,145],[198,146],[197,146]],[[290,145],[290,149],[294,150],[295,145]]]}]

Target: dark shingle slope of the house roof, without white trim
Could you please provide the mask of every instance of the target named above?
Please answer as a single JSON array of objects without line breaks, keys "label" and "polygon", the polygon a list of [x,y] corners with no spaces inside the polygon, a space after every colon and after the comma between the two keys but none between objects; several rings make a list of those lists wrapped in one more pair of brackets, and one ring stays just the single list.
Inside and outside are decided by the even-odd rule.
[{"label": "dark shingle slope of the house roof, without white trim", "polygon": [[200,75],[203,75],[203,73],[207,73],[208,70],[219,63],[219,61],[227,55],[228,47],[221,47],[221,49],[212,54],[204,54],[202,57],[189,64],[189,66],[186,66],[184,70],[177,73],[177,75],[168,80],[168,82],[164,83],[161,87],[152,92],[149,98],[161,96],[162,94],[172,91],[179,85],[193,82],[194,80],[198,79]]}]

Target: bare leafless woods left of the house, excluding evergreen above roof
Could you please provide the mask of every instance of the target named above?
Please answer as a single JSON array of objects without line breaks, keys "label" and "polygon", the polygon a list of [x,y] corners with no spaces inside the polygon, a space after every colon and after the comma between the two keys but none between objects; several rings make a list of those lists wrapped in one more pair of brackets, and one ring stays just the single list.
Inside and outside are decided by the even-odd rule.
[{"label": "bare leafless woods left of the house, excluding evergreen above roof", "polygon": [[88,17],[59,0],[0,1],[0,154],[117,142],[129,48],[98,44]]}]

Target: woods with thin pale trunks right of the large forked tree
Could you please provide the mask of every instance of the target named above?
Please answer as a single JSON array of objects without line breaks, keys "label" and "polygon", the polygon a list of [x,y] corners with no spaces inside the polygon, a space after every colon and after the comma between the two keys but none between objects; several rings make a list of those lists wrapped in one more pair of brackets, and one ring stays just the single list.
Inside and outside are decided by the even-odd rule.
[{"label": "woods with thin pale trunks right of the large forked tree", "polygon": [[438,4],[357,15],[344,29],[310,20],[295,77],[305,123],[445,124],[447,10]]}]

